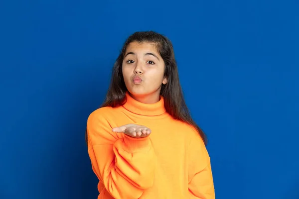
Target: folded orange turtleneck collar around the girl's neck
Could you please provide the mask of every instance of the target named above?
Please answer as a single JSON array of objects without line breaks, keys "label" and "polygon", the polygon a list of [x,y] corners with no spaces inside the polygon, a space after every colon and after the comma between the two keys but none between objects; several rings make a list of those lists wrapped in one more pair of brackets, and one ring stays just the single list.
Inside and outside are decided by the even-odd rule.
[{"label": "folded orange turtleneck collar around the girl's neck", "polygon": [[164,107],[164,99],[160,96],[160,100],[156,103],[142,103],[134,100],[129,92],[126,92],[127,102],[123,105],[124,108],[139,115],[156,116],[166,112]]}]

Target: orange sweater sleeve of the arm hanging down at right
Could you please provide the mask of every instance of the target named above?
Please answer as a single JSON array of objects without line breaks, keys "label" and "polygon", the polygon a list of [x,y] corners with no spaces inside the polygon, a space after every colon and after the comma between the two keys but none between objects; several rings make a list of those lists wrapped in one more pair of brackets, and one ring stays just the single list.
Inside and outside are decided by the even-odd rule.
[{"label": "orange sweater sleeve of the arm hanging down at right", "polygon": [[188,155],[190,199],[215,199],[210,157],[199,135],[191,139]]}]

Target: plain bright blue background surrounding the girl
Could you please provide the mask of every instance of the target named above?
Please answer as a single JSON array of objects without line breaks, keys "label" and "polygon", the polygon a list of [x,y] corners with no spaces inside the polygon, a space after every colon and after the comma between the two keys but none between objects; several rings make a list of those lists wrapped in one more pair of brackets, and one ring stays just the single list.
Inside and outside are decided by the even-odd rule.
[{"label": "plain bright blue background surrounding the girl", "polygon": [[142,30],[173,42],[216,198],[299,199],[298,10],[296,0],[1,0],[0,199],[97,198],[86,119]]}]

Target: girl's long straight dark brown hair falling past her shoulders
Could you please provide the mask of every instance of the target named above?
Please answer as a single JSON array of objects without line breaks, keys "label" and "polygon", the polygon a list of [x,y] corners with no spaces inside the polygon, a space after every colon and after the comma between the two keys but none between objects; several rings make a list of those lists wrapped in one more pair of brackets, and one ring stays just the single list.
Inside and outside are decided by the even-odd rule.
[{"label": "girl's long straight dark brown hair falling past her shoulders", "polygon": [[[157,50],[165,63],[164,76],[167,77],[167,84],[162,84],[160,95],[164,98],[166,111],[174,119],[191,124],[198,131],[204,143],[207,144],[206,135],[192,119],[190,111],[183,98],[172,43],[167,37],[159,33],[153,31],[135,32],[126,40],[123,49],[114,64],[110,87],[106,95],[106,99],[101,107],[118,107],[125,103],[126,92],[128,90],[124,82],[122,63],[127,46],[134,41],[152,42],[156,44]],[[85,140],[87,142],[87,132],[85,132]]]}]

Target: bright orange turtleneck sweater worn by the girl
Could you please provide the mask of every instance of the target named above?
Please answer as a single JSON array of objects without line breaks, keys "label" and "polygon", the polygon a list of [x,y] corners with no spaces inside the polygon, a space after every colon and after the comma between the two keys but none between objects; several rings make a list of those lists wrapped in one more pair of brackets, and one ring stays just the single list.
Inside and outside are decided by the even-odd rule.
[{"label": "bright orange turtleneck sweater worn by the girl", "polygon": [[[135,123],[145,138],[112,132]],[[215,199],[210,157],[195,129],[174,120],[163,98],[144,104],[131,98],[103,107],[87,121],[88,154],[99,179],[98,199]]]}]

